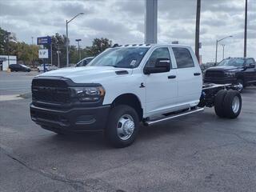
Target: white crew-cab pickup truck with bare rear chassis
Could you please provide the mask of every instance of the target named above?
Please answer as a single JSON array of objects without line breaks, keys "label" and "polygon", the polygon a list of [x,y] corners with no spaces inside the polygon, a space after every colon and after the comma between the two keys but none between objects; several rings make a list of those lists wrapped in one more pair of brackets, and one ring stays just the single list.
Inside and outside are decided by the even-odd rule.
[{"label": "white crew-cab pickup truck with bare rear chassis", "polygon": [[202,84],[190,46],[141,44],[105,50],[88,66],[39,74],[32,82],[31,118],[58,134],[103,130],[129,146],[145,126],[214,106],[237,118],[242,98],[230,85]]}]

